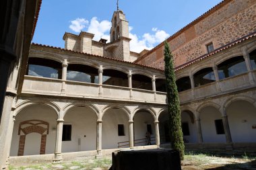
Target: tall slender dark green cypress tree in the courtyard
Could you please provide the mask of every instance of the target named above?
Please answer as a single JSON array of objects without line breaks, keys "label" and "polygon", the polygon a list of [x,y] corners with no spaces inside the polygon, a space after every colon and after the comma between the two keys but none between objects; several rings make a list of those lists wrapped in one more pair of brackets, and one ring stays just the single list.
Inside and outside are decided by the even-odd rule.
[{"label": "tall slender dark green cypress tree in the courtyard", "polygon": [[168,117],[170,126],[170,142],[173,149],[180,152],[181,159],[184,159],[183,132],[181,130],[181,110],[175,74],[172,61],[172,53],[167,42],[164,42],[164,62],[166,90],[168,99]]}]

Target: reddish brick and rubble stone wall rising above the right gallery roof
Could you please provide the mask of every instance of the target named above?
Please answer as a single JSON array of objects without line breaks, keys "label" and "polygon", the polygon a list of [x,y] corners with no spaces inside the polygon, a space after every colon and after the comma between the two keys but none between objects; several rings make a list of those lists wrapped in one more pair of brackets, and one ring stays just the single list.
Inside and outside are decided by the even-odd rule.
[{"label": "reddish brick and rubble stone wall rising above the right gallery roof", "polygon": [[[168,43],[174,54],[175,67],[178,67],[206,54],[205,45],[210,42],[217,49],[255,31],[256,1],[232,0],[170,37]],[[162,51],[163,44],[160,44],[138,63],[164,69]]]}]

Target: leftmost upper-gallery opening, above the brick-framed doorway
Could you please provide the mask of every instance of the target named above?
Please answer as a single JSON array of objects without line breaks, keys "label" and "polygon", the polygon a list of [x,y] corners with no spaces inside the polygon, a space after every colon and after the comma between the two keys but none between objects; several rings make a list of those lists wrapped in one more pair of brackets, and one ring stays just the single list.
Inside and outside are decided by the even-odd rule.
[{"label": "leftmost upper-gallery opening, above the brick-framed doorway", "polygon": [[62,64],[45,58],[28,58],[26,75],[46,77],[51,79],[62,78]]}]

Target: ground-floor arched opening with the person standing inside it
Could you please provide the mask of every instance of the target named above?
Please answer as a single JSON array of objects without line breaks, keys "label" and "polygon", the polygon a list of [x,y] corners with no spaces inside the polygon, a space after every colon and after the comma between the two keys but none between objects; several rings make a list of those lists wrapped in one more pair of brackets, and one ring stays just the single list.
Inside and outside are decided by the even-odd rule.
[{"label": "ground-floor arched opening with the person standing inside it", "polygon": [[134,146],[148,144],[146,133],[150,132],[151,144],[156,144],[154,116],[148,110],[138,110],[133,116]]}]

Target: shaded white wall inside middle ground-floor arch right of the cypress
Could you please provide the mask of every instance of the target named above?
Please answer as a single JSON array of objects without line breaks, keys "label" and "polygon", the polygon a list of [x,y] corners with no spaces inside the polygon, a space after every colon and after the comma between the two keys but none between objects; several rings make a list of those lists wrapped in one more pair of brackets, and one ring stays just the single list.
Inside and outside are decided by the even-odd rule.
[{"label": "shaded white wall inside middle ground-floor arch right of the cypress", "polygon": [[222,119],[220,112],[213,107],[201,110],[201,131],[203,142],[226,142],[225,134],[217,134],[214,120]]}]

